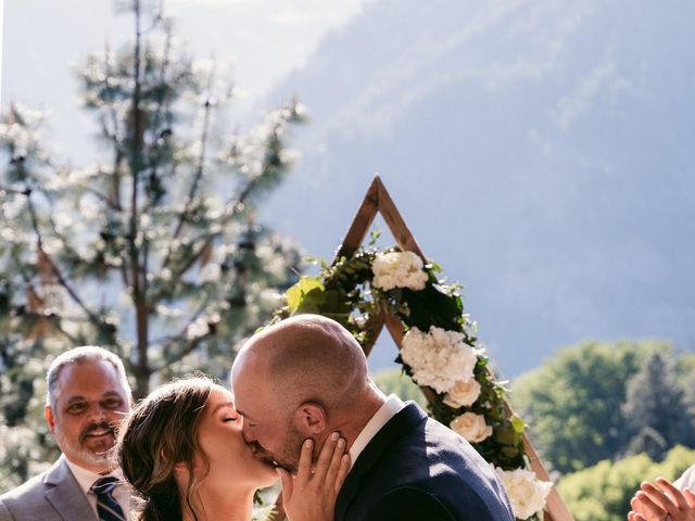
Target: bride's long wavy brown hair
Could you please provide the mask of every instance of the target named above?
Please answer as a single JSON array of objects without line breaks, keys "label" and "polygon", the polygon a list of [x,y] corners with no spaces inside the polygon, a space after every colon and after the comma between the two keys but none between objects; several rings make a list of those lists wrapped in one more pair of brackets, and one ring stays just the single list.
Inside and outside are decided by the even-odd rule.
[{"label": "bride's long wavy brown hair", "polygon": [[[198,521],[193,495],[193,456],[208,463],[198,445],[198,428],[215,383],[193,377],[167,383],[140,402],[118,432],[114,454],[123,473],[141,499],[141,521],[179,521],[188,511]],[[176,463],[185,463],[188,480],[181,491],[174,478]]]}]

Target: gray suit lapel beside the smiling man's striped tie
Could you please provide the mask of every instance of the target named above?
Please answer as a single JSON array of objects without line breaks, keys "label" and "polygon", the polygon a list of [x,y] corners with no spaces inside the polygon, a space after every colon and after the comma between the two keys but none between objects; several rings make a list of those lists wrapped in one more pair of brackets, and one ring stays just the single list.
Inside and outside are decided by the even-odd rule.
[{"label": "gray suit lapel beside the smiling man's striped tie", "polygon": [[97,519],[85,493],[63,458],[46,474],[46,498],[63,519]]}]

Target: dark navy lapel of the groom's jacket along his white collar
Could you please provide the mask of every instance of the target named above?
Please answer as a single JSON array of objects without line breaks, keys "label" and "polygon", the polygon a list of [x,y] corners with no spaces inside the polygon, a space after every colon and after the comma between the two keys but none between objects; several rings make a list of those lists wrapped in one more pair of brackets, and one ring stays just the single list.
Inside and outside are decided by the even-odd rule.
[{"label": "dark navy lapel of the groom's jacket along his white collar", "polygon": [[425,421],[427,415],[415,402],[408,402],[386,425],[371,439],[364,450],[357,456],[336,500],[336,521],[343,521],[348,507],[359,492],[362,479],[368,474],[383,452],[395,440],[410,431],[415,425]]}]

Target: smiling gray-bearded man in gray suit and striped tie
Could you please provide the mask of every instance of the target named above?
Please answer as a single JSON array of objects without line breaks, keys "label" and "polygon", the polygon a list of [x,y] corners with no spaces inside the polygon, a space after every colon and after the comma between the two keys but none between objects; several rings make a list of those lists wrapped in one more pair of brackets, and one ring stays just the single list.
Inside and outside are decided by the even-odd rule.
[{"label": "smiling gray-bearded man in gray suit and striped tie", "polygon": [[123,363],[101,347],[76,347],[53,360],[47,383],[46,421],[63,454],[0,496],[0,521],[128,519],[130,494],[108,455],[130,409]]}]

